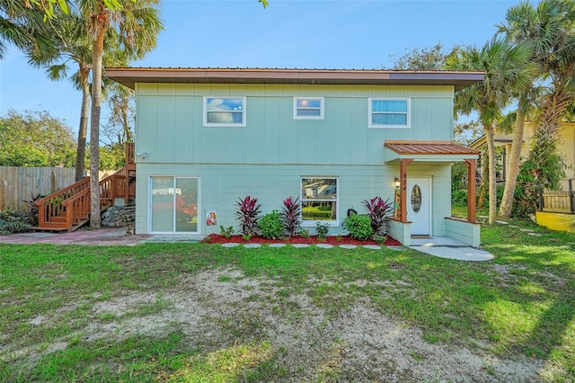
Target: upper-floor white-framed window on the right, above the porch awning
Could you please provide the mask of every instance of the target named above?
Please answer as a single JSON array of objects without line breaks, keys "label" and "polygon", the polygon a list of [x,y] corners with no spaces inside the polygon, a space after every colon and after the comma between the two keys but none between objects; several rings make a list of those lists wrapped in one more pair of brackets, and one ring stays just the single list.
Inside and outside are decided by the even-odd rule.
[{"label": "upper-floor white-framed window on the right, above the porch awning", "polygon": [[410,99],[369,99],[369,128],[410,128]]}]

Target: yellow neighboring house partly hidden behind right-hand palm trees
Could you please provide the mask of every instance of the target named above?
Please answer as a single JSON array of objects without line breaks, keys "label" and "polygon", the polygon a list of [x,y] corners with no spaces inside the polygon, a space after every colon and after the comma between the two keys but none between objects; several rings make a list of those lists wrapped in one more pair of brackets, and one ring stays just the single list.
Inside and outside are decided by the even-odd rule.
[{"label": "yellow neighboring house partly hidden behind right-hand palm trees", "polygon": [[[531,146],[531,138],[533,138],[535,124],[527,121],[523,134],[523,144],[521,145],[521,156],[526,158],[529,154]],[[562,154],[563,160],[567,168],[565,169],[566,178],[562,180],[563,190],[569,190],[569,180],[575,179],[575,122],[563,122],[557,134],[558,145],[557,149]],[[513,142],[513,134],[496,134],[494,137],[495,148],[498,153],[498,171],[497,182],[505,183],[507,179],[507,172],[509,169],[509,156],[511,153],[511,143]],[[469,147],[476,150],[484,150],[487,147],[485,136],[477,138]]]}]

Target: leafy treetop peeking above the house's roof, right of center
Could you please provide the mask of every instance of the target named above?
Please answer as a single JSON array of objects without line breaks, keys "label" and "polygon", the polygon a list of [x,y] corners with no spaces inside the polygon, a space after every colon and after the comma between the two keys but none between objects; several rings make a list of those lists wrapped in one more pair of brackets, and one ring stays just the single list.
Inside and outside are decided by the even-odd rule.
[{"label": "leafy treetop peeking above the house's roof, right of center", "polygon": [[[451,52],[457,48],[452,48]],[[447,56],[449,53],[445,53],[443,44],[438,42],[433,47],[414,48],[403,56],[390,55],[390,58],[394,59],[394,70],[439,70]]]}]

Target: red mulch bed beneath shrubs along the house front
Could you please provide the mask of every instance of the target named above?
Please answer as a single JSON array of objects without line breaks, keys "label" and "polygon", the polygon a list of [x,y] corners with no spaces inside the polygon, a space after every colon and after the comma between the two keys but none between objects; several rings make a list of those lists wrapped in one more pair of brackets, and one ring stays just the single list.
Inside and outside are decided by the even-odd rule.
[{"label": "red mulch bed beneath shrubs along the house front", "polygon": [[[350,236],[328,236],[323,241],[319,241],[317,236],[309,236],[304,238],[302,236],[292,236],[290,238],[284,239],[267,239],[263,236],[252,236],[249,241],[243,239],[242,236],[222,236],[220,234],[210,234],[206,236],[203,242],[208,244],[225,244],[226,242],[234,242],[237,244],[328,244],[328,245],[381,245],[376,243],[376,241],[358,241]],[[391,236],[388,236],[383,245],[386,246],[396,246],[402,245],[399,241],[395,240]]]}]

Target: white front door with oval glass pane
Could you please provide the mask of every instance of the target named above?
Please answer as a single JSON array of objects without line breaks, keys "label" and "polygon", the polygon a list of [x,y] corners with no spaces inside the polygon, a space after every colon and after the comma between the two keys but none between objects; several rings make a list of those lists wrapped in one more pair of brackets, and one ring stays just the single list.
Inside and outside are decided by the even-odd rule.
[{"label": "white front door with oval glass pane", "polygon": [[431,234],[431,180],[407,179],[407,220],[411,221],[412,236]]}]

